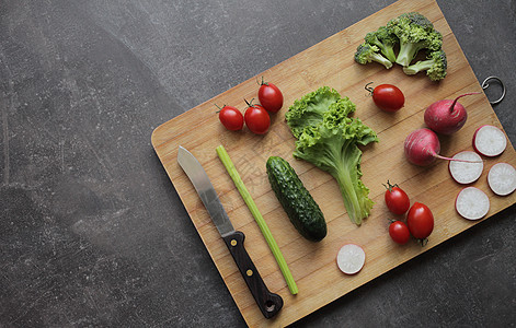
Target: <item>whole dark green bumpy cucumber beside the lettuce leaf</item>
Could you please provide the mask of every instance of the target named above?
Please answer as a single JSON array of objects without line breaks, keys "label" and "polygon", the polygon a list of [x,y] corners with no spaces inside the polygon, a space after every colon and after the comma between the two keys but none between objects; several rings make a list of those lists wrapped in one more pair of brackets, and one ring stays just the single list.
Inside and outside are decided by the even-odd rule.
[{"label": "whole dark green bumpy cucumber beside the lettuce leaf", "polygon": [[290,164],[282,157],[271,156],[266,167],[271,187],[296,230],[312,242],[324,238],[324,215]]}]

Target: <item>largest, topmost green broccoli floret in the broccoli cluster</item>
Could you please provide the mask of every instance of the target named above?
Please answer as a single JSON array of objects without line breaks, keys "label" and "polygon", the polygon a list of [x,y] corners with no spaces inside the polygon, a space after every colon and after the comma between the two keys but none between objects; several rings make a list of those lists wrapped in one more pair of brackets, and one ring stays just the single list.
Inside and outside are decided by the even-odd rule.
[{"label": "largest, topmost green broccoli floret in the broccoli cluster", "polygon": [[401,14],[390,20],[387,27],[400,39],[395,62],[401,66],[409,66],[421,49],[438,50],[443,46],[443,35],[417,12]]}]

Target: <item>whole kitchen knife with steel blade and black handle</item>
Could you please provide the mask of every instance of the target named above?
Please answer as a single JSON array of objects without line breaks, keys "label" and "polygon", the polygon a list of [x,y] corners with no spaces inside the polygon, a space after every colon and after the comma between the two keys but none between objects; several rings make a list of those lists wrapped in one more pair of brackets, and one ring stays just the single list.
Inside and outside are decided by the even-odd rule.
[{"label": "whole kitchen knife with steel blade and black handle", "polygon": [[191,152],[181,145],[177,151],[177,163],[188,176],[195,190],[197,190],[200,200],[222,236],[226,246],[228,246],[263,316],[267,319],[272,318],[282,309],[283,298],[278,294],[271,293],[265,285],[265,282],[243,246],[245,235],[242,232],[234,231],[228,213],[226,213],[203,166]]}]

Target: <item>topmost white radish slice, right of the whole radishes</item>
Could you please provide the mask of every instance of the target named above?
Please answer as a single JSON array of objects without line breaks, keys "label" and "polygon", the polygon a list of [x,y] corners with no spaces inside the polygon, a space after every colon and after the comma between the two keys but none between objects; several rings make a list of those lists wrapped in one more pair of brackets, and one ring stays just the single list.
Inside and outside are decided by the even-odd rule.
[{"label": "topmost white radish slice, right of the whole radishes", "polygon": [[494,157],[504,152],[507,138],[495,126],[485,125],[477,129],[473,134],[473,148],[484,156]]}]

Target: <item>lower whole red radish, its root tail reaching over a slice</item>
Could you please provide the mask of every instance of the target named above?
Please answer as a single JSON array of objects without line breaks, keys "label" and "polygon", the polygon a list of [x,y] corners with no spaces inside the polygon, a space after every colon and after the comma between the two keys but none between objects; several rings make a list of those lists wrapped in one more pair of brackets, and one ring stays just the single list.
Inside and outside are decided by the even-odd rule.
[{"label": "lower whole red radish, its root tail reaching over a slice", "polygon": [[446,161],[470,162],[465,160],[449,159],[439,155],[440,142],[437,134],[431,129],[417,129],[410,133],[404,143],[405,156],[412,164],[426,166],[434,163],[435,159]]}]

